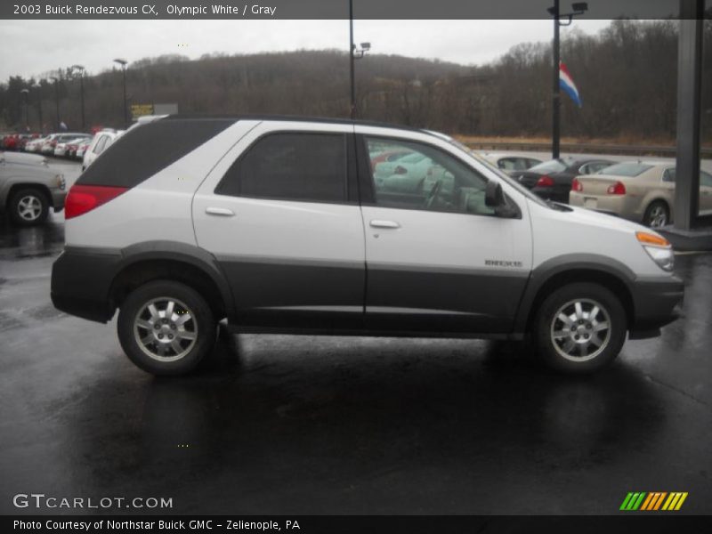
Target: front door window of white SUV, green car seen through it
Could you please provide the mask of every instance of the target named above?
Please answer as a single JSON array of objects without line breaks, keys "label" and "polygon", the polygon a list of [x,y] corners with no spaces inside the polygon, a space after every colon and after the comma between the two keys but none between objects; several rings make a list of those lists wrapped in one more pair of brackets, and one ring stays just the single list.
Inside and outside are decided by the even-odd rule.
[{"label": "front door window of white SUV, green car seen through it", "polygon": [[[378,206],[469,214],[494,214],[485,206],[487,179],[457,158],[429,145],[367,138]],[[409,151],[393,162],[378,162],[386,150]]]}]

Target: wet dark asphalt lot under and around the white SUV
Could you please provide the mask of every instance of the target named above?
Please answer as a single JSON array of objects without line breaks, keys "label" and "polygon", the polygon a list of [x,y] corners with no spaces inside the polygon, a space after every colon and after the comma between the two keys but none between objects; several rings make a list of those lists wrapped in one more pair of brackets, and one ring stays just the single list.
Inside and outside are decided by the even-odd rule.
[{"label": "wet dark asphalt lot under and around the white SUV", "polygon": [[198,375],[158,379],[115,321],[53,308],[63,228],[0,223],[2,514],[87,512],[12,506],[33,492],[172,514],[616,514],[628,491],[712,513],[712,254],[676,258],[684,319],[595,376],[521,344],[223,335]]}]

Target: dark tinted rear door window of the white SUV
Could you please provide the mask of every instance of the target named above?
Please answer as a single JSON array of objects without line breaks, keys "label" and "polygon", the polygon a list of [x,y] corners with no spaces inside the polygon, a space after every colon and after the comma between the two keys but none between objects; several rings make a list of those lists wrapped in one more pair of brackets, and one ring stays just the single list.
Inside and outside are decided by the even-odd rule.
[{"label": "dark tinted rear door window of the white SUV", "polygon": [[238,158],[215,192],[252,198],[343,202],[346,136],[269,134]]}]

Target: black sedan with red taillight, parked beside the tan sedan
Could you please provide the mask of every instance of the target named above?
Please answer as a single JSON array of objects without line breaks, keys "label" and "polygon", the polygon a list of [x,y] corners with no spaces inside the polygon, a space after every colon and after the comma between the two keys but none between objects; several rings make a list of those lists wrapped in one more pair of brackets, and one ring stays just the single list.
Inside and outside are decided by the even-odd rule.
[{"label": "black sedan with red taillight, parked beside the tan sedan", "polygon": [[511,175],[539,197],[565,204],[569,201],[571,181],[576,176],[596,173],[613,163],[602,158],[550,159],[527,171],[515,171]]}]

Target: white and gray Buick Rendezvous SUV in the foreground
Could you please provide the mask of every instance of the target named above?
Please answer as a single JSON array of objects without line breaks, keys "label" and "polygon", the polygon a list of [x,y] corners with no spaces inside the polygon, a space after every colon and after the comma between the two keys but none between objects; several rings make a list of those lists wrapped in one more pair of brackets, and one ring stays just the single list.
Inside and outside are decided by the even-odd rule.
[{"label": "white and gray Buick Rendezvous SUV in the foreground", "polygon": [[[373,179],[379,154],[425,174]],[[601,368],[659,335],[683,283],[635,223],[546,203],[442,134],[345,120],[161,118],[69,191],[62,311],[106,322],[155,374],[237,332],[530,334],[550,366]]]}]

